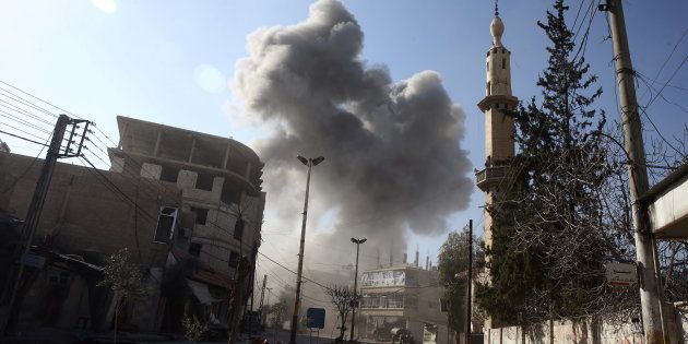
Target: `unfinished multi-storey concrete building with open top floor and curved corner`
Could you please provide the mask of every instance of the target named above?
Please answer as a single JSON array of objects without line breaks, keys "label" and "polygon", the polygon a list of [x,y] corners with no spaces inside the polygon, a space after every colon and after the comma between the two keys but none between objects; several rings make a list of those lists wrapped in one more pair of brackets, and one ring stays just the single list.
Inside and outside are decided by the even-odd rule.
[{"label": "unfinished multi-storey concrete building with open top floor and curved corner", "polygon": [[117,123],[112,170],[181,190],[182,213],[191,216],[182,216],[177,245],[229,274],[240,256],[253,265],[265,204],[258,155],[227,138],[121,116]]}]

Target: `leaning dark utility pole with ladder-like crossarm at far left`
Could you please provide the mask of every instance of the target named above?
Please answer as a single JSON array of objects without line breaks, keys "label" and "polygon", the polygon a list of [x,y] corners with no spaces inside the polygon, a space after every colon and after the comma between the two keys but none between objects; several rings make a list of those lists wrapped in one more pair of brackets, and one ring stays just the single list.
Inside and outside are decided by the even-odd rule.
[{"label": "leaning dark utility pole with ladder-like crossarm at far left", "polygon": [[[83,127],[79,127],[80,123],[83,123]],[[90,122],[86,120],[73,120],[67,115],[60,115],[57,123],[55,124],[52,139],[50,140],[50,145],[48,146],[48,152],[46,153],[46,158],[40,169],[40,176],[38,177],[34,195],[28,204],[28,210],[26,211],[21,238],[22,245],[20,245],[14,252],[14,259],[15,262],[19,263],[19,266],[16,268],[12,278],[8,280],[8,286],[10,289],[9,296],[5,298],[9,300],[5,304],[7,307],[3,307],[7,309],[7,313],[3,315],[1,319],[2,323],[0,323],[0,334],[13,331],[14,322],[20,312],[21,300],[25,294],[21,293],[22,295],[17,298],[17,294],[21,292],[20,289],[24,275],[24,260],[29,254],[31,244],[34,239],[34,235],[36,234],[36,229],[38,228],[43,205],[45,204],[46,195],[48,194],[48,189],[50,188],[50,181],[52,179],[52,173],[55,171],[55,165],[58,158],[81,155],[81,150],[83,147],[86,133],[88,132],[88,124]],[[68,130],[68,126],[72,127],[70,129],[69,139],[66,142],[64,150],[62,150],[61,146],[64,141],[64,133]],[[82,128],[83,131],[79,134],[78,130]],[[78,137],[81,137],[81,139],[78,139]]]}]

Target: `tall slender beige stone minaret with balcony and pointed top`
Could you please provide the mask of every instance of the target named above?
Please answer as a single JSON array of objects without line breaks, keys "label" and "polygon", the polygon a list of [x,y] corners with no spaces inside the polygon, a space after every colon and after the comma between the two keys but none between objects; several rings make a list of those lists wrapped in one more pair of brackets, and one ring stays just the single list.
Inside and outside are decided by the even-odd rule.
[{"label": "tall slender beige stone minaret with balcony and pointed top", "polygon": [[[502,110],[514,109],[519,99],[511,95],[511,52],[501,43],[505,24],[499,17],[495,2],[495,17],[489,26],[493,46],[487,50],[485,68],[487,83],[485,98],[478,107],[485,114],[485,169],[475,173],[477,187],[485,192],[485,234],[486,246],[493,244],[493,218],[487,205],[499,199],[508,185],[502,182],[513,157],[514,126],[511,117]],[[501,190],[500,190],[501,188]],[[489,260],[489,257],[486,257]]]}]

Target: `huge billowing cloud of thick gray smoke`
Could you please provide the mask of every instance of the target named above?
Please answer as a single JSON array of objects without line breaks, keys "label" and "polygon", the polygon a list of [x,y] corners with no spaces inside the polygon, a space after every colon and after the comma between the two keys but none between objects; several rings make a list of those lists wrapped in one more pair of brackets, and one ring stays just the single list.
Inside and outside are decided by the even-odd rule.
[{"label": "huge billowing cloud of thick gray smoke", "polygon": [[299,215],[306,167],[296,155],[323,155],[309,213],[335,212],[331,242],[366,236],[389,252],[391,240],[405,248],[406,226],[422,235],[448,229],[447,216],[468,205],[472,165],[459,145],[465,116],[439,74],[394,83],[385,67],[361,60],[363,40],[342,3],[317,1],[306,21],[249,36],[235,88],[250,112],[277,123],[256,146],[266,163],[268,206]]}]

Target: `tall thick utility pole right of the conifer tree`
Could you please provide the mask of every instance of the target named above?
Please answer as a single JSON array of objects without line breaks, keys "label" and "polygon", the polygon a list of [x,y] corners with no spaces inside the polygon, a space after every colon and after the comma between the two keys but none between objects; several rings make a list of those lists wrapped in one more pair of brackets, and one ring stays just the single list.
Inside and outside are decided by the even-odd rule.
[{"label": "tall thick utility pole right of the conifer tree", "polygon": [[638,99],[633,84],[633,67],[631,64],[626,22],[621,0],[607,0],[600,5],[601,11],[609,12],[612,40],[614,41],[614,64],[619,88],[621,120],[624,123],[624,145],[630,161],[628,176],[632,204],[633,228],[636,229],[636,256],[640,275],[640,304],[645,343],[664,343],[662,321],[662,298],[660,293],[656,264],[656,244],[650,229],[650,216],[647,204],[637,200],[648,192],[648,169],[645,150],[642,140],[642,127],[638,112]]}]

